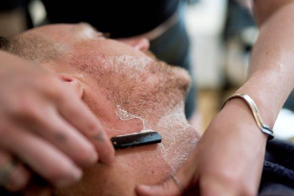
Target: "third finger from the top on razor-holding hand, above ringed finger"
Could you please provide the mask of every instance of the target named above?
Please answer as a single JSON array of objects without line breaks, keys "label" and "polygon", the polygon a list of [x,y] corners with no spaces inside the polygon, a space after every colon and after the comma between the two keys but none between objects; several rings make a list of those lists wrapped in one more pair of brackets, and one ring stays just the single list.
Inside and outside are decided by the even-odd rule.
[{"label": "third finger from the top on razor-holding hand, above ringed finger", "polygon": [[73,161],[47,141],[17,128],[7,131],[5,136],[0,137],[2,147],[10,149],[55,186],[68,186],[81,178],[82,171]]}]

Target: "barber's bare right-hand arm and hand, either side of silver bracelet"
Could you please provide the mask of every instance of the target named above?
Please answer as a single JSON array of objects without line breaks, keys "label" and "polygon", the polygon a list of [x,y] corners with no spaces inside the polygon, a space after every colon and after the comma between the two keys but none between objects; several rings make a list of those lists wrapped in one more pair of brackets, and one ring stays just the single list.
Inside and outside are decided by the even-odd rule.
[{"label": "barber's bare right-hand arm and hand, either side of silver bracelet", "polygon": [[[260,27],[246,83],[237,91],[257,104],[271,127],[294,87],[294,0],[255,0]],[[213,119],[196,150],[175,174],[186,190],[198,185],[203,196],[255,196],[268,136],[246,103],[232,99]],[[181,194],[172,178],[162,185],[138,186],[140,196]]]}]

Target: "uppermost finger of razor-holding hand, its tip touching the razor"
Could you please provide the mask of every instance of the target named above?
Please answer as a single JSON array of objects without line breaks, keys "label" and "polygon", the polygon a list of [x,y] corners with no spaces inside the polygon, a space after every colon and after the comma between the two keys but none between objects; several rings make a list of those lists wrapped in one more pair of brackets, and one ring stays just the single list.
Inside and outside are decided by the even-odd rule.
[{"label": "uppermost finger of razor-holding hand, its tip touching the razor", "polygon": [[114,147],[93,112],[83,102],[74,98],[61,101],[59,108],[61,115],[94,144],[99,160],[102,163],[112,162]]}]

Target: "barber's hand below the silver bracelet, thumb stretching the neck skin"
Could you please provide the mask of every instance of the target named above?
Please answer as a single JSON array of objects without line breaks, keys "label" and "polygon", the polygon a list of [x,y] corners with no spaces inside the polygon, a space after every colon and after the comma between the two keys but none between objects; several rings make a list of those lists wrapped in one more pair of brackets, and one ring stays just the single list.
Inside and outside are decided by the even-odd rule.
[{"label": "barber's hand below the silver bracelet, thumb stretching the neck skin", "polygon": [[[233,99],[210,123],[175,176],[185,193],[196,190],[201,196],[256,196],[266,141],[246,103]],[[139,196],[183,194],[172,178],[157,186],[138,186],[136,191]]]}]

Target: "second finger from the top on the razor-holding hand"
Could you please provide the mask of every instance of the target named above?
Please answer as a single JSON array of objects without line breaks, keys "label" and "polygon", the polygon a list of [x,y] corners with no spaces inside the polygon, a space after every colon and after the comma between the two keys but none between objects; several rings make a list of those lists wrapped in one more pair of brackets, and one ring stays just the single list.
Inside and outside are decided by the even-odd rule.
[{"label": "second finger from the top on the razor-holding hand", "polygon": [[89,166],[98,160],[95,147],[71,124],[64,121],[58,112],[48,108],[46,116],[36,114],[38,126],[34,131],[61,149],[80,166]]}]

